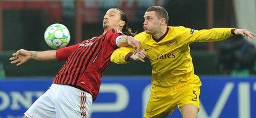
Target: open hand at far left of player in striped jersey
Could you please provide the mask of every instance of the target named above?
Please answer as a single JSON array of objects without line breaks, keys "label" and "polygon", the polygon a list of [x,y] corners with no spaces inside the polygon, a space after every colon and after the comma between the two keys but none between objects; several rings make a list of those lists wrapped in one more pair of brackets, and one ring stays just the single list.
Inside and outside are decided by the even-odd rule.
[{"label": "open hand at far left of player in striped jersey", "polygon": [[23,63],[27,62],[30,60],[30,52],[24,49],[20,49],[17,52],[12,54],[12,57],[9,58],[11,60],[11,63],[17,63],[16,66],[22,65]]}]

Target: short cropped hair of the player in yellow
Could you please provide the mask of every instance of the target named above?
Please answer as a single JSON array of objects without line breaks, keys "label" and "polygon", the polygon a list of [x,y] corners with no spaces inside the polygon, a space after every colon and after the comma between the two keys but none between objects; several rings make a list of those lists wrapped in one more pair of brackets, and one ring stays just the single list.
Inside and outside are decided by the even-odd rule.
[{"label": "short cropped hair of the player in yellow", "polygon": [[165,18],[165,23],[168,24],[168,20],[169,20],[168,12],[166,11],[166,9],[164,9],[164,7],[152,6],[152,7],[149,7],[146,12],[151,12],[151,11],[156,12],[156,15],[158,18]]}]

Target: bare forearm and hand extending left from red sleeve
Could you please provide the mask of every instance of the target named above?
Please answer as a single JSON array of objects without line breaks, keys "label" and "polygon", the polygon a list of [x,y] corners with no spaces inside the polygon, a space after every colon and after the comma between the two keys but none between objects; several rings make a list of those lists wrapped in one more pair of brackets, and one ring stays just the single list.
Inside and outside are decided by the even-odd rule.
[{"label": "bare forearm and hand extending left from red sleeve", "polygon": [[56,50],[37,52],[37,51],[28,51],[28,50],[20,49],[17,52],[13,53],[12,57],[9,58],[12,64],[17,63],[16,66],[22,65],[23,63],[27,62],[30,59],[40,60],[40,61],[57,60]]}]

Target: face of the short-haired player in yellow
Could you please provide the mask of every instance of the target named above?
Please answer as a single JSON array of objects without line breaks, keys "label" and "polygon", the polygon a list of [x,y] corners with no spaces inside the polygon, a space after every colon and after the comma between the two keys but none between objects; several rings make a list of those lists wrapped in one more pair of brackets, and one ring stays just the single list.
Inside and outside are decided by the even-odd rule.
[{"label": "face of the short-haired player in yellow", "polygon": [[158,19],[156,12],[145,12],[143,29],[148,34],[155,34],[160,30],[160,19]]}]

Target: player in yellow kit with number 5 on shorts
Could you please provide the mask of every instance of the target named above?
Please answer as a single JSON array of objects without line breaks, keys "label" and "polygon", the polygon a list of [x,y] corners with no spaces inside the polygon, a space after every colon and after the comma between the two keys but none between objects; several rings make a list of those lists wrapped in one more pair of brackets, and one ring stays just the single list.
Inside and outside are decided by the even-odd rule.
[{"label": "player in yellow kit with number 5 on shorts", "polygon": [[221,41],[241,34],[254,39],[246,29],[213,28],[195,30],[183,26],[168,26],[168,12],[160,6],[147,9],[144,32],[135,36],[141,44],[140,52],[132,48],[117,49],[111,55],[114,63],[141,60],[146,52],[152,66],[151,95],[144,116],[167,117],[177,106],[182,117],[197,117],[199,111],[200,79],[194,74],[189,44]]}]

